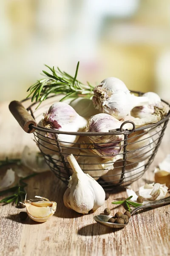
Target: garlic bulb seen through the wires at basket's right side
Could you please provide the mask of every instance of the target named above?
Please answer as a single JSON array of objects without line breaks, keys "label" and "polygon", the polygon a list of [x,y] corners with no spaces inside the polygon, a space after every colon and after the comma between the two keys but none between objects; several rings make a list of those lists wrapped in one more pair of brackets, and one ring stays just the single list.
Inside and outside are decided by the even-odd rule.
[{"label": "garlic bulb seen through the wires at basket's right side", "polygon": [[[136,143],[137,144],[137,143]],[[149,142],[144,148],[136,148],[133,151],[127,151],[127,161],[136,163],[138,161],[144,161],[151,157],[153,154],[153,140],[150,137]]]}]

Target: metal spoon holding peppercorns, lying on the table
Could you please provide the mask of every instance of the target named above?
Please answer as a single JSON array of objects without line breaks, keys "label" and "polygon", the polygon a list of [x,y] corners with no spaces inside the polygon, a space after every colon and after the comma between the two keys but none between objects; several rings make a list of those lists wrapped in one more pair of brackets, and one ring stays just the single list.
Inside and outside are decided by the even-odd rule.
[{"label": "metal spoon holding peppercorns, lying on the table", "polygon": [[[168,196],[167,198],[163,198],[163,199],[154,201],[154,202],[150,202],[148,204],[138,206],[138,207],[134,208],[133,210],[131,210],[130,214],[133,215],[135,212],[139,211],[140,209],[144,209],[144,208],[147,208],[147,207],[159,206],[159,205],[162,205],[162,204],[169,204],[169,203],[170,203],[170,196]],[[118,224],[118,223],[108,222],[108,220],[112,217],[113,216],[96,215],[96,216],[94,216],[94,220],[96,222],[98,222],[99,224],[101,224],[101,225],[111,227],[111,228],[121,228],[121,227],[125,227],[127,224],[129,224],[129,221],[127,222],[127,224]]]}]

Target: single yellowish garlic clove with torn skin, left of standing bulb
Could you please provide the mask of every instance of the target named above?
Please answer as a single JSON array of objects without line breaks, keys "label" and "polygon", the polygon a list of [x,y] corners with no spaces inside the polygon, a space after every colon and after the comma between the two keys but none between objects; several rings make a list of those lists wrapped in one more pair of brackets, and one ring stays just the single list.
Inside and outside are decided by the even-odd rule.
[{"label": "single yellowish garlic clove with torn skin, left of standing bulb", "polygon": [[29,218],[37,222],[45,222],[50,218],[57,208],[57,203],[54,201],[49,201],[47,198],[41,196],[35,196],[38,198],[36,200],[26,200],[24,205],[26,206],[26,211]]}]

